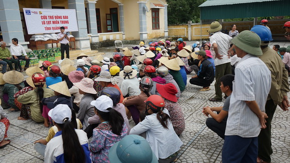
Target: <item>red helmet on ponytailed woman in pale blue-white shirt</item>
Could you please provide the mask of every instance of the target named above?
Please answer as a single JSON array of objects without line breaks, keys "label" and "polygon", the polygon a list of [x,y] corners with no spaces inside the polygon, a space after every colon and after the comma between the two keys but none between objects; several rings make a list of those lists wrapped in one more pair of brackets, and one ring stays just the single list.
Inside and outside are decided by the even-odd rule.
[{"label": "red helmet on ponytailed woman in pale blue-white shirt", "polygon": [[[146,108],[147,106],[149,109],[153,111],[162,111],[165,107],[165,102],[161,96],[158,95],[151,95],[147,98],[145,101],[146,103]],[[148,110],[148,109],[147,109]]]}]

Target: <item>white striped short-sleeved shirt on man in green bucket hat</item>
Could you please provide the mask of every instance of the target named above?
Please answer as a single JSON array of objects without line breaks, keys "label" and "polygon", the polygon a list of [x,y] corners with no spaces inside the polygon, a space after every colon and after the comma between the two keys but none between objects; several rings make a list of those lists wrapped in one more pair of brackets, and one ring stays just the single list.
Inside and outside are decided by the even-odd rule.
[{"label": "white striped short-sleeved shirt on man in green bucket hat", "polygon": [[265,112],[271,73],[258,57],[250,54],[241,58],[234,73],[225,135],[257,137],[261,127],[259,118],[249,109],[245,101],[255,101],[259,109]]}]

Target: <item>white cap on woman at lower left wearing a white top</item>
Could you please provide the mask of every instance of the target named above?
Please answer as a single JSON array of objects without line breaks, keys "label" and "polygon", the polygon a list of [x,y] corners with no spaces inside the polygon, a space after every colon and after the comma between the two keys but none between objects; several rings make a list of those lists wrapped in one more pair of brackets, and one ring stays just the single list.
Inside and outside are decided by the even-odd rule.
[{"label": "white cap on woman at lower left wearing a white top", "polygon": [[48,116],[57,123],[64,124],[66,121],[71,121],[71,110],[65,104],[58,104],[53,109],[50,109]]}]

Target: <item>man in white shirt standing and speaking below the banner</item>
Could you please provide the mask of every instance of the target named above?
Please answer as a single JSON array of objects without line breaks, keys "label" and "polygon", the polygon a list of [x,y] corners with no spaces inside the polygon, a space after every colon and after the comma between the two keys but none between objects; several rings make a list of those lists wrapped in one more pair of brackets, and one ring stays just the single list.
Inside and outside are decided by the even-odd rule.
[{"label": "man in white shirt standing and speaking below the banner", "polygon": [[69,58],[69,37],[64,32],[64,27],[61,26],[60,33],[57,34],[58,42],[60,43],[60,53],[61,59],[64,59],[64,51],[66,54],[66,58]]}]

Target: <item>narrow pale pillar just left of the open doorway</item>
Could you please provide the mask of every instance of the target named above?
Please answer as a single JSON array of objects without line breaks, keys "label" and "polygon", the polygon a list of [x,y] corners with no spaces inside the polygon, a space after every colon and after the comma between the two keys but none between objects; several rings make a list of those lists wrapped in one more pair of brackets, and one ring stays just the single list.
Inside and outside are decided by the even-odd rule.
[{"label": "narrow pale pillar just left of the open doorway", "polygon": [[88,32],[91,34],[91,43],[99,42],[96,24],[95,3],[96,1],[86,0],[86,13],[88,21]]}]

